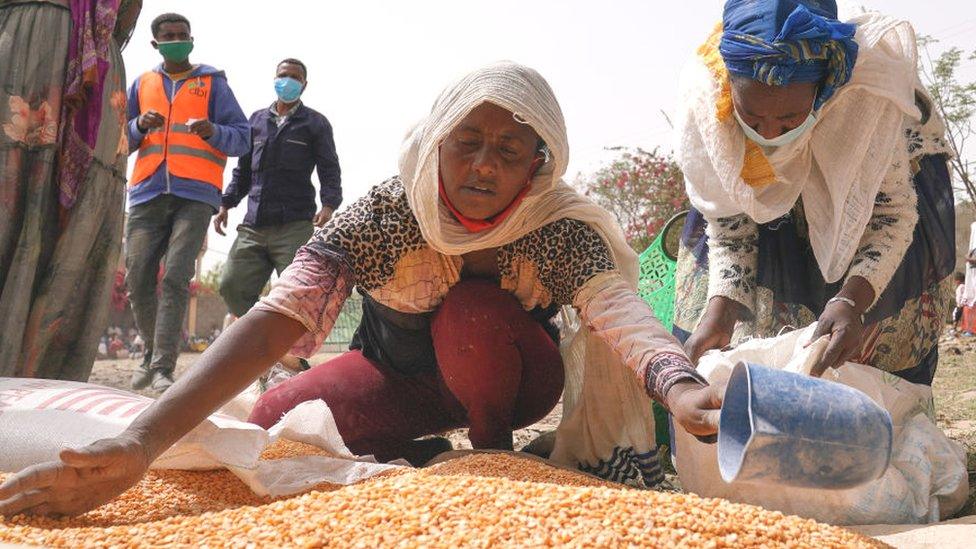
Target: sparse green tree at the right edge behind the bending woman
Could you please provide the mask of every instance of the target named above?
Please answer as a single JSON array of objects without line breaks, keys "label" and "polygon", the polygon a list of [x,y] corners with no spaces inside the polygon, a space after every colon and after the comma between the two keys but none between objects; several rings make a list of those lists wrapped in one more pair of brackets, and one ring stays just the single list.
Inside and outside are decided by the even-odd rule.
[{"label": "sparse green tree at the right edge behind the bending woman", "polygon": [[[945,121],[946,142],[953,153],[949,166],[956,190],[967,197],[970,205],[976,205],[976,162],[969,160],[965,154],[967,142],[976,133],[973,125],[976,115],[976,81],[960,81],[959,68],[965,52],[959,48],[950,48],[933,60],[929,46],[937,42],[938,40],[930,36],[919,37],[918,45],[922,53],[919,74],[932,96],[938,114]],[[965,59],[976,61],[976,50]]]}]

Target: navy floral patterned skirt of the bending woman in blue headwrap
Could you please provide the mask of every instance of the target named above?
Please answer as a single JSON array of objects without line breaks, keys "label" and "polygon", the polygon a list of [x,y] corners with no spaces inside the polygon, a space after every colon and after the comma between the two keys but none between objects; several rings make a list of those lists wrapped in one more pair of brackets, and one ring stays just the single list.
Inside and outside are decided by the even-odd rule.
[{"label": "navy floral patterned skirt of the bending woman in blue headwrap", "polygon": [[[915,171],[919,220],[905,257],[888,287],[866,315],[857,362],[913,383],[931,385],[939,361],[939,337],[954,304],[955,206],[944,156],[923,156]],[[675,274],[673,333],[685,341],[708,301],[708,237],[702,215],[685,222]],[[802,203],[786,216],[759,226],[756,318],[736,326],[733,344],[774,337],[817,320],[843,284],[820,274],[807,233]]]}]

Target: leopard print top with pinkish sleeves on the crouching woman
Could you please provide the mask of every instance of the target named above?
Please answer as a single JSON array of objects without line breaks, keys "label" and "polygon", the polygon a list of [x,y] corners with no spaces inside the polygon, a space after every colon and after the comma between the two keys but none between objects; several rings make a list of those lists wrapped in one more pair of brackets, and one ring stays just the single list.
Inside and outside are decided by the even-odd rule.
[{"label": "leopard print top with pinkish sleeves on the crouching woman", "polygon": [[[560,219],[497,250],[499,284],[528,311],[571,305],[589,329],[663,400],[676,382],[701,381],[677,341],[623,280],[592,227]],[[397,313],[437,309],[460,282],[463,259],[433,250],[398,178],[374,187],[317,231],[256,307],[298,320],[309,333],[292,352],[321,345],[353,286]]]}]

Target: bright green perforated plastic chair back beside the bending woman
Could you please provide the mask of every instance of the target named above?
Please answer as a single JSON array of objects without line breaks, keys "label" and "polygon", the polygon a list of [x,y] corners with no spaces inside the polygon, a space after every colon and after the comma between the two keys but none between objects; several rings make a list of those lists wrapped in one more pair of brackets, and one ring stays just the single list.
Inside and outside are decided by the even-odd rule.
[{"label": "bright green perforated plastic chair back beside the bending woman", "polygon": [[651,306],[654,316],[671,331],[674,321],[674,270],[678,258],[678,239],[688,212],[668,220],[664,229],[640,254],[637,294]]}]

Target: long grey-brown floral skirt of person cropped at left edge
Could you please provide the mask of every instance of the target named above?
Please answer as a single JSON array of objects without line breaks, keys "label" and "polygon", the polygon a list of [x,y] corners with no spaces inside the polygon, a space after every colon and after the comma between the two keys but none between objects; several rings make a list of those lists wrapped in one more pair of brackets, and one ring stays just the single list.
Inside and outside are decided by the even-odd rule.
[{"label": "long grey-brown floral skirt of person cropped at left edge", "polygon": [[0,3],[0,377],[87,380],[122,246],[125,74],[113,48],[95,159],[58,203],[58,133],[71,14]]}]

